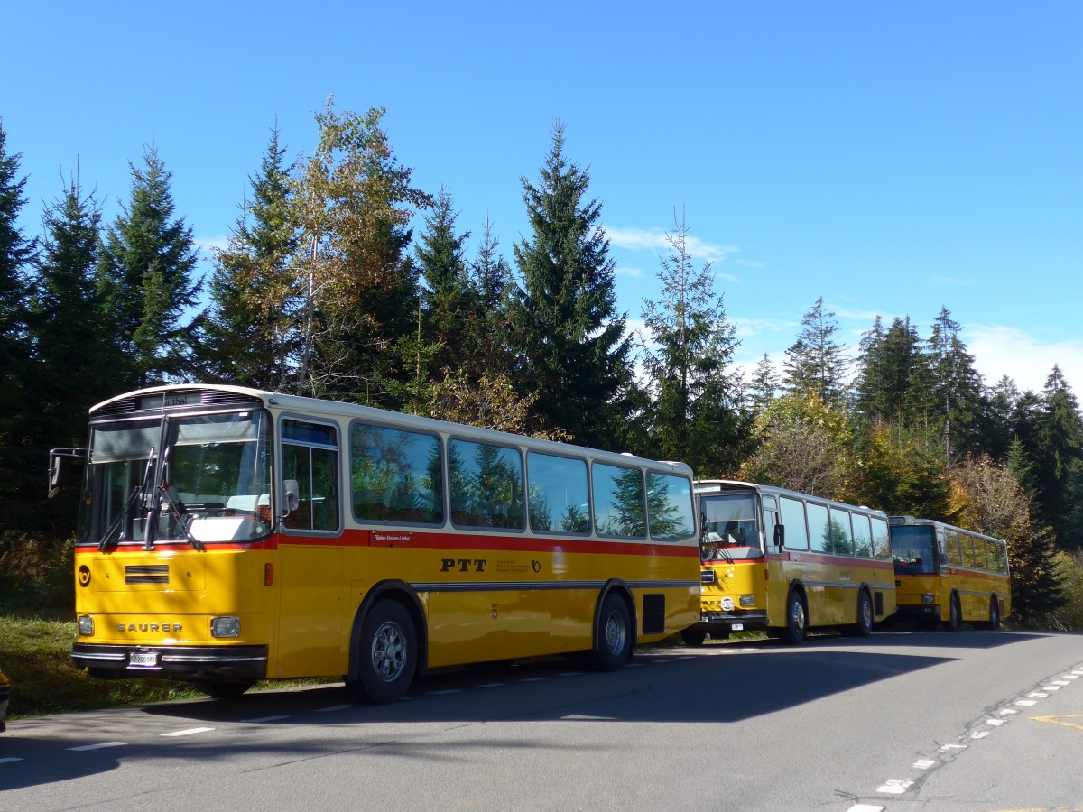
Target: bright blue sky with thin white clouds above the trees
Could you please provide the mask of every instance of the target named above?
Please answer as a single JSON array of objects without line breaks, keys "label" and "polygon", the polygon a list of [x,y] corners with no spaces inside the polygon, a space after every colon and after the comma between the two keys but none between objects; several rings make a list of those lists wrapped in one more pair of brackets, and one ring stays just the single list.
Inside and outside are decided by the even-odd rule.
[{"label": "bright blue sky with thin white clouds above the trees", "polygon": [[[738,361],[780,362],[815,300],[857,344],[941,306],[987,383],[1083,395],[1083,3],[10,3],[0,118],[27,234],[78,161],[107,219],[152,139],[222,245],[271,128],[387,108],[419,187],[504,254],[556,120],[589,168],[635,324],[684,211]],[[420,220],[415,226],[419,230]]]}]

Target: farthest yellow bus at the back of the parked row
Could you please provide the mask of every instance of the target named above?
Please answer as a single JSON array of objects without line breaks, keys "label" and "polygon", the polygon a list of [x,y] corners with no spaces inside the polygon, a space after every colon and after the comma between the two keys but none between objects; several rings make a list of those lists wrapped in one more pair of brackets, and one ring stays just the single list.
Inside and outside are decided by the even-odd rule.
[{"label": "farthest yellow bus at the back of the parked row", "polygon": [[1012,614],[1007,543],[943,522],[891,516],[900,620],[996,629]]}]

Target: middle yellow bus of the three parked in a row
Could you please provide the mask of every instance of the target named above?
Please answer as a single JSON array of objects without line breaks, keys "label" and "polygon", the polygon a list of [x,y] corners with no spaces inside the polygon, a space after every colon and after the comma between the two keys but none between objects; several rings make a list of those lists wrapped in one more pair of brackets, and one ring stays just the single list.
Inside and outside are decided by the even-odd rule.
[{"label": "middle yellow bus of the three parked in a row", "polygon": [[793,644],[822,627],[866,637],[895,613],[886,513],[748,482],[695,493],[703,603],[689,645],[751,630]]}]

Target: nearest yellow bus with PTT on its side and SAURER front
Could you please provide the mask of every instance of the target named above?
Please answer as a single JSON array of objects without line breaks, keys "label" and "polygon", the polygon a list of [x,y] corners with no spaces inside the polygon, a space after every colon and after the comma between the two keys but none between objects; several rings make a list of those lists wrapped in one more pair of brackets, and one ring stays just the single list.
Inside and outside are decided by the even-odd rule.
[{"label": "nearest yellow bus with PTT on its side and SAURER front", "polygon": [[86,461],[71,656],[94,677],[384,703],[444,666],[617,669],[697,617],[682,463],[203,384],[94,406]]}]

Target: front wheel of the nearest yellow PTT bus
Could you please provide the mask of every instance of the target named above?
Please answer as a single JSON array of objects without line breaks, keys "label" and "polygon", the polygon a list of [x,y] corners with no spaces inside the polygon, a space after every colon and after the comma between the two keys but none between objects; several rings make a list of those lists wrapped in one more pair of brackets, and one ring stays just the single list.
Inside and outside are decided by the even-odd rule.
[{"label": "front wheel of the nearest yellow PTT bus", "polygon": [[409,690],[417,670],[417,632],[397,601],[380,601],[365,617],[357,641],[357,679],[345,686],[358,702],[384,705]]}]

